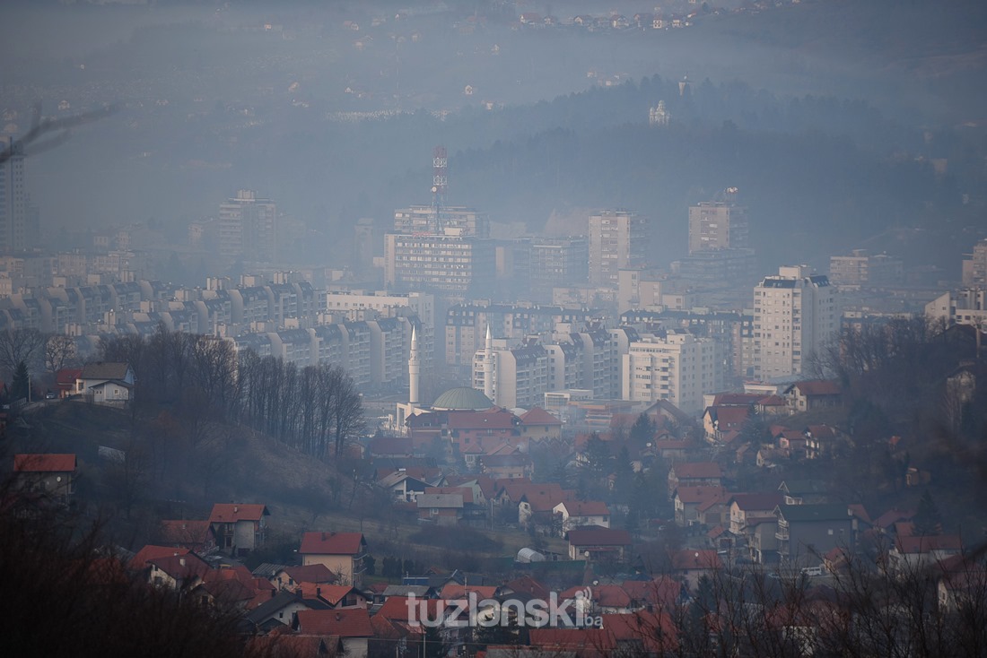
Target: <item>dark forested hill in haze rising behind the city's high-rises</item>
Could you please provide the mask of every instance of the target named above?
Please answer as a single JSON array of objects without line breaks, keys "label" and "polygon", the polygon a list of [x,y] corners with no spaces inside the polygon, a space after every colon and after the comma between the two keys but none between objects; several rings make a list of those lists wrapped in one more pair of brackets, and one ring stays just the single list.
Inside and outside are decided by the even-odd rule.
[{"label": "dark forested hill in haze rising behind the city's high-rises", "polygon": [[[658,101],[672,116],[664,127],[646,120]],[[823,263],[907,227],[923,230],[925,252],[917,256],[955,268],[969,241],[961,229],[977,221],[976,203],[964,206],[963,194],[982,201],[983,171],[973,157],[982,148],[960,134],[904,127],[859,101],[785,99],[742,83],[690,83],[680,95],[678,81],[653,77],[435,123],[447,144],[469,143],[477,132],[503,135],[489,147],[450,154],[455,202],[533,232],[553,210],[634,208],[653,220],[658,263],[683,255],[687,206],[727,186],[739,187],[751,209],[752,239],[766,266],[780,257]],[[937,159],[946,161],[945,174],[937,173]],[[417,187],[425,176],[422,167],[387,185],[393,201],[423,198]],[[386,207],[378,212],[386,216]],[[937,240],[946,244],[935,261],[927,248]],[[886,248],[913,256],[907,244]]]}]

